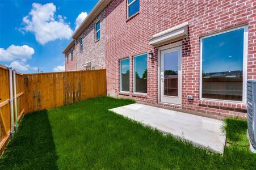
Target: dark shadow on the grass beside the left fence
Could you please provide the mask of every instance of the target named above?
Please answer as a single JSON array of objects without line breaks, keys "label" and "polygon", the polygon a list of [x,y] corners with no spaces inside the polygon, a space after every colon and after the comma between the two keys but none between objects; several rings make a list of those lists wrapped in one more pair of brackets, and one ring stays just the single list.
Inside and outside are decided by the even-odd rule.
[{"label": "dark shadow on the grass beside the left fence", "polygon": [[0,169],[57,169],[56,162],[52,129],[44,110],[24,116],[0,158]]}]

